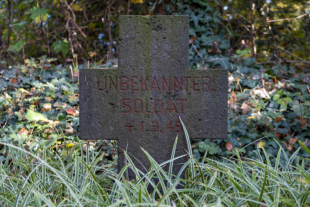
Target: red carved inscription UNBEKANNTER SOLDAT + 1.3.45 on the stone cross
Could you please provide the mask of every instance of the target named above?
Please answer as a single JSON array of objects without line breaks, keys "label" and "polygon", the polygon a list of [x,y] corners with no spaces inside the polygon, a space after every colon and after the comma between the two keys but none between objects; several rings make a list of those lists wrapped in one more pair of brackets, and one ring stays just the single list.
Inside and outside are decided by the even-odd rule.
[{"label": "red carved inscription UNBEKANNTER SOLDAT + 1.3.45 on the stone cross", "polygon": [[[152,80],[152,82],[148,83]],[[185,90],[188,92],[211,92],[209,84],[211,79],[209,77],[117,77],[117,76],[104,76],[97,77],[97,90],[98,91],[111,91],[118,90],[120,92],[142,92],[142,91],[182,91]],[[175,101],[164,101],[155,99],[153,103],[149,103],[147,100],[140,99],[122,99],[121,104],[123,106],[122,114],[166,114],[167,112],[172,112],[175,114],[183,114],[183,106],[186,104],[186,99],[178,99]],[[175,121],[175,128],[172,126],[170,121],[164,128],[165,132],[176,132],[179,133],[182,131],[182,126],[180,126],[179,121]],[[157,122],[152,122],[150,129],[144,129],[143,121],[140,123],[141,132],[150,131],[152,133],[162,133],[162,129],[158,129]],[[125,124],[125,128],[128,133],[131,133],[132,130],[137,131],[131,123]]]}]

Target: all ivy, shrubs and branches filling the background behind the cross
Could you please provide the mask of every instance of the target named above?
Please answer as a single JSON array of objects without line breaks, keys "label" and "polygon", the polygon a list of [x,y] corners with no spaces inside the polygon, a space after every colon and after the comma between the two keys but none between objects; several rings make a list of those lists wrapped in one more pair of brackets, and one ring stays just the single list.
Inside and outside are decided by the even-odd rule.
[{"label": "all ivy, shrubs and branches filling the background behind the cross", "polygon": [[[236,148],[255,159],[262,147],[275,157],[274,139],[288,156],[297,140],[309,145],[307,1],[10,0],[0,12],[2,141],[61,154],[79,142],[78,68],[117,67],[118,16],[129,14],[188,15],[190,67],[229,70],[228,140],[194,140],[198,159]],[[115,141],[89,143],[103,163],[117,158]]]}]

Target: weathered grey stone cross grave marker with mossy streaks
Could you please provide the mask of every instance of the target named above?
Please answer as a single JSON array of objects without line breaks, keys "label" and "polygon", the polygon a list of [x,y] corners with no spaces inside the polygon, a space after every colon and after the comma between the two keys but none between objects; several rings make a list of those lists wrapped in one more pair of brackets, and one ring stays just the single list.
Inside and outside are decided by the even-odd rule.
[{"label": "weathered grey stone cross grave marker with mossy streaks", "polygon": [[[192,139],[227,139],[227,70],[189,69],[188,25],[188,16],[120,16],[118,68],[80,70],[79,137],[117,139],[118,172],[126,148],[145,169],[140,147],[169,160],[177,134],[175,156],[186,154],[179,116]],[[174,161],[175,175],[187,160]]]}]

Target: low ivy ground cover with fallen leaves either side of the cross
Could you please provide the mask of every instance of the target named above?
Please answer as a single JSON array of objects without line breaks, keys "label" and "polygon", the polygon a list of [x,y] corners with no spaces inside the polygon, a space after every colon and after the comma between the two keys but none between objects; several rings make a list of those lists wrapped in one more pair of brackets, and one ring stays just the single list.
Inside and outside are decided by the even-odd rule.
[{"label": "low ivy ground cover with fallen leaves either side of the cross", "polygon": [[[20,139],[28,147],[45,144],[60,154],[80,142],[78,70],[76,65],[54,65],[53,61],[43,56],[0,71],[2,142]],[[309,145],[308,75],[286,66],[266,69],[249,57],[232,63],[229,71],[228,139],[193,140],[198,160],[206,151],[209,158],[219,159],[234,154],[236,148],[242,157],[255,159],[260,156],[257,148],[264,147],[275,162],[275,140],[288,155],[299,147],[297,140]],[[90,146],[105,153],[103,163],[117,158],[116,141],[91,141]],[[6,147],[0,146],[0,153],[1,161],[9,156]],[[299,155],[308,157],[303,150]]]}]

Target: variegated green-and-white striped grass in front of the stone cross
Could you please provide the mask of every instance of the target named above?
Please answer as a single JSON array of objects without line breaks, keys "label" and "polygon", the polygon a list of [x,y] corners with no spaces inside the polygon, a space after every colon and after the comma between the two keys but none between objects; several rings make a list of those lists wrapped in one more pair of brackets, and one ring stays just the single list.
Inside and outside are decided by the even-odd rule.
[{"label": "variegated green-and-white striped grass in front of the stone cross", "polygon": [[[125,152],[128,164],[118,174],[112,164],[98,164],[104,154],[90,156],[88,146],[83,153],[84,142],[65,156],[40,142],[29,149],[21,142],[19,146],[1,142],[7,147],[7,159],[0,162],[0,206],[310,206],[309,159],[297,157],[301,148],[310,155],[302,142],[288,157],[276,141],[275,164],[264,148],[258,149],[256,160],[241,157],[237,150],[225,162],[208,159],[207,153],[198,162],[186,129],[185,134],[189,160],[178,175],[171,173],[173,160],[179,158],[174,153],[157,164],[142,149],[151,163],[143,173]],[[176,145],[177,138],[174,149]],[[279,162],[281,156],[285,164]],[[168,172],[164,165],[169,165]],[[135,172],[134,180],[125,179],[128,169]]]}]

